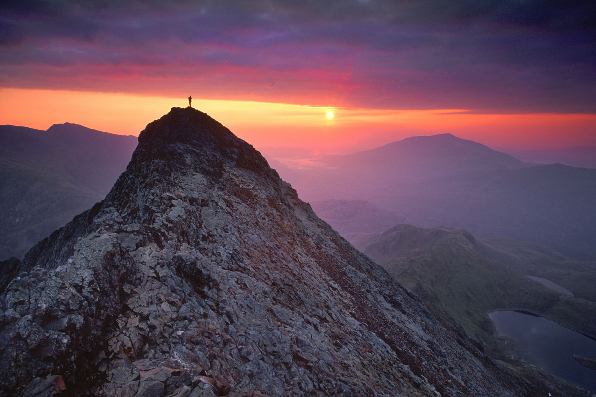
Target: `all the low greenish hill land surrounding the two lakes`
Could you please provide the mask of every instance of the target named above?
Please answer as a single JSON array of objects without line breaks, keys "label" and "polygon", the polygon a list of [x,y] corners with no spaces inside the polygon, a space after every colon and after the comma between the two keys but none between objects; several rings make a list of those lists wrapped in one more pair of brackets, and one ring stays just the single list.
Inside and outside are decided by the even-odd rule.
[{"label": "all the low greenish hill land surrounding the two lakes", "polygon": [[[406,224],[370,236],[362,252],[415,292],[437,318],[457,321],[492,358],[507,362],[531,383],[545,385],[552,395],[578,393],[573,391],[575,386],[510,355],[511,340],[495,337],[488,312],[516,310],[539,315],[596,340],[596,262],[573,261],[533,243],[503,237],[482,240],[463,229],[421,229]],[[544,277],[539,280],[550,280],[570,290],[561,293],[527,276]],[[584,376],[582,380],[565,379],[574,379],[570,382],[593,392],[594,382],[589,381],[589,374]]]}]

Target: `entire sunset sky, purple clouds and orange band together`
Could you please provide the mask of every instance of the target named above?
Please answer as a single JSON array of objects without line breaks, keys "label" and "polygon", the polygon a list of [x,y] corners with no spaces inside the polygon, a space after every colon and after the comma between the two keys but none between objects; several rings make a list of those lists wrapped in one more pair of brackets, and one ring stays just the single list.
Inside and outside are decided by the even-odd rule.
[{"label": "entire sunset sky, purple clouds and orange band together", "polygon": [[0,2],[0,123],[137,135],[190,94],[270,153],[596,146],[595,2],[100,3]]}]

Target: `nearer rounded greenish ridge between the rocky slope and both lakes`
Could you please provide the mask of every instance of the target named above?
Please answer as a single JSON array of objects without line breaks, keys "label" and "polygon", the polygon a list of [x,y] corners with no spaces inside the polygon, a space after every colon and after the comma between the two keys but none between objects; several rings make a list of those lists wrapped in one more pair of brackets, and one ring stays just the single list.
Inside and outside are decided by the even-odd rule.
[{"label": "nearer rounded greenish ridge between the rocky slope and both lakes", "polygon": [[462,229],[398,225],[371,240],[363,252],[414,291],[437,318],[454,318],[495,358],[505,360],[493,339],[495,329],[488,317],[493,310],[533,312],[596,339],[594,302],[547,289],[481,254],[479,246],[485,249]]}]

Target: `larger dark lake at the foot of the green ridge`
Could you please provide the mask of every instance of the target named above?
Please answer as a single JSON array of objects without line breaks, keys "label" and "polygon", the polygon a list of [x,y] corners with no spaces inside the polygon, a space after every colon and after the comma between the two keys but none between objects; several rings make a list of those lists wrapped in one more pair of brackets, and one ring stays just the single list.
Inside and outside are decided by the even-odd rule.
[{"label": "larger dark lake at the foot of the green ridge", "polygon": [[569,383],[596,393],[596,371],[573,359],[596,357],[596,342],[543,317],[516,311],[493,311],[489,317],[500,336],[513,339],[514,354]]}]

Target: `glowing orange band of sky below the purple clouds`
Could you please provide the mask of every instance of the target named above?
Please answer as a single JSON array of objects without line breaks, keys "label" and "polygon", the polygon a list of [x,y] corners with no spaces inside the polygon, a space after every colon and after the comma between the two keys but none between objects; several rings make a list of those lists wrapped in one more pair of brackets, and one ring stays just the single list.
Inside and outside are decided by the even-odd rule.
[{"label": "glowing orange band of sky below the purple clouds", "polygon": [[[180,98],[57,90],[0,90],[0,124],[47,129],[77,123],[138,135]],[[495,149],[596,145],[594,114],[468,114],[465,110],[371,110],[194,98],[207,112],[257,149],[301,148],[344,154],[409,136],[453,133]],[[328,118],[327,112],[333,112]]]}]

